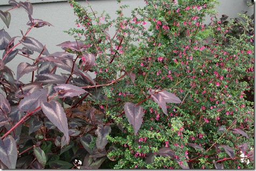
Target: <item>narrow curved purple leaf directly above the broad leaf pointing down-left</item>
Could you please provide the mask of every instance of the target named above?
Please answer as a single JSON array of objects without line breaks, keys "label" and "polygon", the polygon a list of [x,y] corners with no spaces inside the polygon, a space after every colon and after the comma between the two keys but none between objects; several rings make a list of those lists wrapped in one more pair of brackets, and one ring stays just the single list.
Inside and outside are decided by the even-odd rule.
[{"label": "narrow curved purple leaf directly above the broad leaf pointing down-left", "polygon": [[38,83],[25,84],[24,86],[20,87],[15,95],[18,98],[24,98],[25,96],[30,95],[31,93],[40,89],[42,89],[42,86]]}]

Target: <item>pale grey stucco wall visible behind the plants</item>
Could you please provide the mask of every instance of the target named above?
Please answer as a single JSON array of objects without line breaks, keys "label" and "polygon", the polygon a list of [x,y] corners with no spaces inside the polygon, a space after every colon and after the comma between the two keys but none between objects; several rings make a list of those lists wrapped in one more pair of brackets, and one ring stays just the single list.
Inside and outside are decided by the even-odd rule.
[{"label": "pale grey stucco wall visible behind the plants", "polygon": [[[3,2],[8,3],[8,0],[0,0],[0,10],[5,11],[11,8],[8,5],[1,5],[4,4]],[[25,0],[22,0],[23,2]],[[40,0],[42,2],[42,0]],[[40,3],[39,0],[31,0],[33,3],[33,18],[34,19],[42,19],[48,21],[54,27],[41,27],[41,28],[33,28],[28,36],[37,39],[42,44],[46,44],[46,48],[48,49],[49,53],[54,53],[55,51],[62,51],[60,47],[57,47],[56,44],[62,43],[64,41],[74,41],[72,36],[69,36],[62,31],[68,30],[69,28],[75,27],[75,19],[73,9],[70,5],[65,1],[55,2],[56,0],[44,0],[44,3]],[[49,2],[53,1],[53,2]],[[59,0],[58,0],[59,1]],[[19,1],[18,1],[19,2]],[[81,4],[86,5],[87,3],[84,1],[79,1]],[[101,13],[105,10],[107,13],[110,14],[112,18],[115,18],[117,15],[115,14],[116,10],[118,9],[118,4],[116,0],[91,0],[88,1],[92,8],[95,11]],[[216,6],[216,10],[219,12],[219,18],[221,18],[222,14],[226,14],[230,18],[237,17],[237,13],[241,11],[248,11],[248,14],[253,13],[252,8],[248,8],[246,2],[250,2],[250,0],[219,0],[220,4]],[[145,3],[143,0],[123,0],[122,4],[130,5],[130,8],[124,11],[125,15],[130,14],[130,10],[134,9],[138,6],[144,6]],[[6,32],[10,34],[11,37],[19,36],[20,30],[26,32],[27,30],[27,21],[29,18],[27,17],[27,13],[23,8],[16,8],[10,11],[11,13],[11,24],[10,27],[7,28],[2,20],[0,20],[0,29],[4,28]],[[208,23],[208,22],[206,22]],[[210,21],[209,21],[210,23]],[[113,33],[110,33],[113,35]],[[18,40],[19,38],[17,38]],[[20,46],[19,48],[22,48]],[[35,53],[38,54],[38,53]],[[3,55],[3,50],[0,51],[0,57]],[[16,56],[16,58],[7,64],[14,73],[17,72],[17,66],[20,62],[30,62],[25,57]],[[15,77],[16,78],[16,77]],[[24,83],[28,83],[31,79],[29,75],[24,75],[20,81]]]}]

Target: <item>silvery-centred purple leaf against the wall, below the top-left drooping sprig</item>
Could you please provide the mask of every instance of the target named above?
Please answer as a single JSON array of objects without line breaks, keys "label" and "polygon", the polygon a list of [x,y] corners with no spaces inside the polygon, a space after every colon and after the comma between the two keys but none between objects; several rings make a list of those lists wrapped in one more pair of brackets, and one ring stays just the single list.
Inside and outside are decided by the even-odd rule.
[{"label": "silvery-centred purple leaf against the wall, below the top-left drooping sprig", "polygon": [[[20,41],[20,43],[33,51],[37,51],[38,53],[41,53],[41,51],[44,49],[44,45],[42,45],[42,43],[31,37],[25,37],[22,41]],[[42,51],[42,55],[49,55],[49,52],[46,48],[44,51]]]}]

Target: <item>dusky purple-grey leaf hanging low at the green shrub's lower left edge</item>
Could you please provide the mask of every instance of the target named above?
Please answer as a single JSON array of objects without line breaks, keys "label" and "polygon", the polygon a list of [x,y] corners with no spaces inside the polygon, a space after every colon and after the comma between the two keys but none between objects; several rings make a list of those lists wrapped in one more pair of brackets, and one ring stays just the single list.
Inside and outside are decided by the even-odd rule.
[{"label": "dusky purple-grey leaf hanging low at the green shrub's lower left edge", "polygon": [[96,139],[96,146],[98,150],[103,150],[106,144],[108,144],[108,140],[106,139],[106,136],[108,136],[110,132],[111,132],[111,127],[109,126],[103,127],[103,125],[98,125],[98,128],[95,131],[95,134],[98,136]]}]

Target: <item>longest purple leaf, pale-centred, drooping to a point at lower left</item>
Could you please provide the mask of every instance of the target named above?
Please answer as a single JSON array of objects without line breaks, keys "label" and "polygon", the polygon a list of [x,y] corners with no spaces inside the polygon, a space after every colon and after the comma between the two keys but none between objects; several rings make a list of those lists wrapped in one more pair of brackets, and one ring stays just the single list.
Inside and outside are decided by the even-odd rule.
[{"label": "longest purple leaf, pale-centred, drooping to a point at lower left", "polygon": [[[51,121],[61,132],[64,133],[64,136],[66,137],[66,144],[69,142],[69,136],[68,136],[68,121],[67,116],[64,111],[64,109],[61,107],[60,103],[58,101],[52,100],[49,102],[43,102],[40,103],[42,111],[46,115],[46,117]],[[63,143],[61,143],[61,148],[63,147]]]}]

